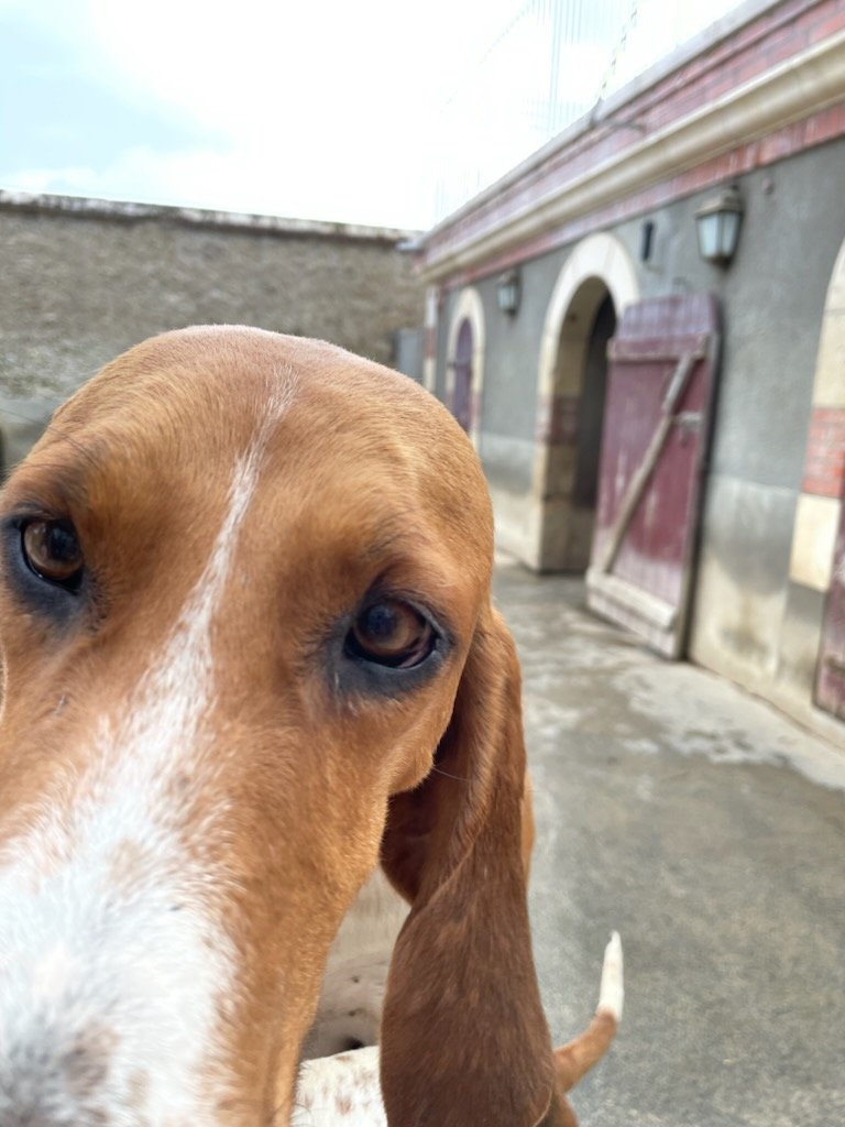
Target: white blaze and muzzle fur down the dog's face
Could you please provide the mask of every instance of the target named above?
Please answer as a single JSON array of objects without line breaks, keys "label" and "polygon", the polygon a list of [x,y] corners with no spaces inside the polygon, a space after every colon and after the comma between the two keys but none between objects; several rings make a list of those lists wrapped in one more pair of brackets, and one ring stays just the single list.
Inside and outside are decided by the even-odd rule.
[{"label": "white blaze and muzzle fur down the dog's face", "polygon": [[235,465],[163,651],[119,717],[94,719],[90,766],[0,854],[0,1122],[29,1121],[27,1107],[33,1121],[217,1121],[237,952],[215,911],[229,877],[203,852],[225,811],[192,818],[192,795],[215,771],[212,624],[282,406]]}]

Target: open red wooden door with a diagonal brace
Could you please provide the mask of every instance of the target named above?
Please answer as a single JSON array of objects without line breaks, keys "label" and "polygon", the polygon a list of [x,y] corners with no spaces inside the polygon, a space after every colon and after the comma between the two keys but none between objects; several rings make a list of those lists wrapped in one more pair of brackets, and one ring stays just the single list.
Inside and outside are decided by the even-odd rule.
[{"label": "open red wooden door with a diagonal brace", "polygon": [[610,344],[587,602],[667,657],[685,644],[719,353],[712,294],[630,305]]}]

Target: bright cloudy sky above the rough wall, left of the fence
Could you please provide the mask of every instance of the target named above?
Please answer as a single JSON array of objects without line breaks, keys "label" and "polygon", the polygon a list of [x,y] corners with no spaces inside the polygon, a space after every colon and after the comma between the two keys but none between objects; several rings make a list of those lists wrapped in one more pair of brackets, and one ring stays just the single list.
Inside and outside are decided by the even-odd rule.
[{"label": "bright cloudy sky above the rough wall, left of the fence", "polygon": [[[429,227],[444,106],[526,7],[0,0],[0,187]],[[530,78],[531,47],[507,42]],[[607,52],[585,41],[568,68],[585,107]],[[493,153],[515,104],[499,55],[509,78],[489,74],[488,104],[500,104],[471,139]],[[509,144],[504,167],[532,137]]]}]

